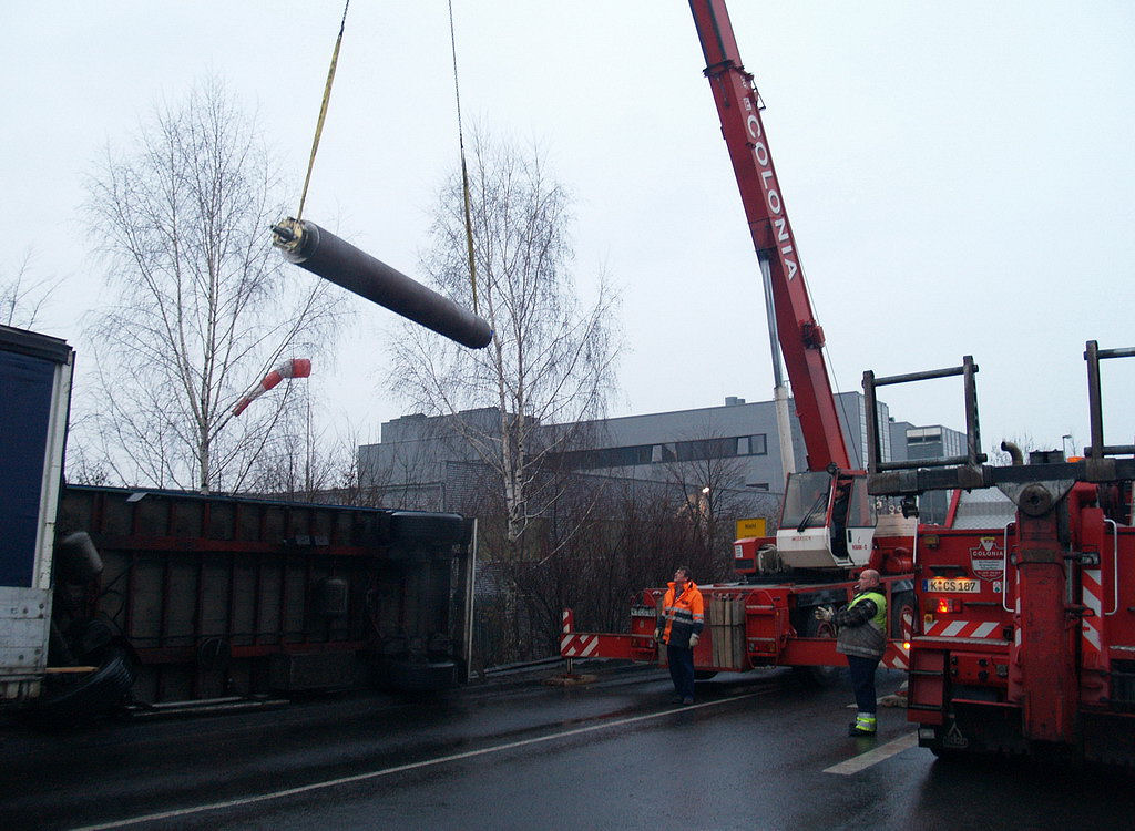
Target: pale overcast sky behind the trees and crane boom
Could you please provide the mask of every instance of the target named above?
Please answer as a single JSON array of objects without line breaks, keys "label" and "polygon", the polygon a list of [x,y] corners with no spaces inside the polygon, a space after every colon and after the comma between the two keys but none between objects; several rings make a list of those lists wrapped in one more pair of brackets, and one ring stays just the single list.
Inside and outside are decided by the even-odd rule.
[{"label": "pale overcast sky behind the trees and crane boom", "polygon": [[[99,302],[82,177],[159,96],[212,74],[299,190],[342,2],[11,3],[7,263],[66,278],[44,330],[81,350]],[[544,146],[575,199],[575,274],[622,287],[613,414],[771,397],[756,258],[688,3],[454,0],[466,123]],[[824,327],[833,380],[973,354],[983,444],[1088,440],[1084,342],[1135,345],[1135,3],[734,0],[741,57]],[[304,216],[413,276],[457,160],[444,0],[355,0]],[[313,383],[377,438],[390,313]],[[1135,440],[1135,359],[1104,364],[1112,444]],[[255,380],[255,379],[250,379]],[[960,380],[888,389],[962,428]]]}]

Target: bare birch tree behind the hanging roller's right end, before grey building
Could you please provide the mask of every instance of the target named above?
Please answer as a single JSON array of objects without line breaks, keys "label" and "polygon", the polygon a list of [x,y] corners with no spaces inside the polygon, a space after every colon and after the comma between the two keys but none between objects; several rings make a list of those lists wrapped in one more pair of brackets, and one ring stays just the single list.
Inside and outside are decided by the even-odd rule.
[{"label": "bare birch tree behind the hanging roller's right end, before grey building", "polygon": [[[501,482],[505,545],[516,553],[533,518],[558,495],[554,477],[541,476],[545,461],[578,442],[586,429],[580,422],[605,412],[617,297],[600,274],[592,302],[581,305],[571,271],[570,198],[539,149],[478,134],[471,157],[478,310],[493,327],[493,343],[471,351],[404,327],[392,386],[421,412],[455,417],[455,429]],[[460,175],[442,188],[422,267],[439,291],[472,308]],[[495,409],[491,429],[484,418],[461,418],[477,408]]]}]

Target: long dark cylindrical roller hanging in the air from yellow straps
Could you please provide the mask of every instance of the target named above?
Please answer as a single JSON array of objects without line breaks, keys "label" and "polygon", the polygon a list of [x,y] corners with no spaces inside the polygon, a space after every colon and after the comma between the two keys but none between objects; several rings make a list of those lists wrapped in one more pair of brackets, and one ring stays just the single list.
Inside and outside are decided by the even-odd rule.
[{"label": "long dark cylindrical roller hanging in the air from yellow straps", "polygon": [[493,342],[488,321],[306,219],[272,226],[272,244],[300,268],[421,324],[462,346]]}]

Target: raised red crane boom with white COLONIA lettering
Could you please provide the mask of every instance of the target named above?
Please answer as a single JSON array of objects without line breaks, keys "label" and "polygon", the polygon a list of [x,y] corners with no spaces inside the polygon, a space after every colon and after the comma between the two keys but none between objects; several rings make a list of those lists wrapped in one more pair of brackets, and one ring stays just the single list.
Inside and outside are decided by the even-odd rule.
[{"label": "raised red crane boom with white COLONIA lettering", "polygon": [[847,470],[851,464],[824,361],[824,334],[812,312],[753,76],[741,65],[724,0],[690,0],[690,10],[753,244],[757,258],[767,262],[772,278],[776,327],[808,451],[808,469],[834,464]]}]

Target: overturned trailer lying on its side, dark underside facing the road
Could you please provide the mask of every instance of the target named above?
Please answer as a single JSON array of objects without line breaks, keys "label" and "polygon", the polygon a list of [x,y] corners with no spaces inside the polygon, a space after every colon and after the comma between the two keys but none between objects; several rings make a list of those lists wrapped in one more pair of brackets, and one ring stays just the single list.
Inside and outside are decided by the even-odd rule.
[{"label": "overturned trailer lying on its side, dark underside facing the road", "polygon": [[[59,552],[52,657],[100,665],[93,686],[128,664],[142,705],[468,678],[457,514],[68,486],[58,534],[83,532]],[[56,687],[42,707],[79,706]]]}]

